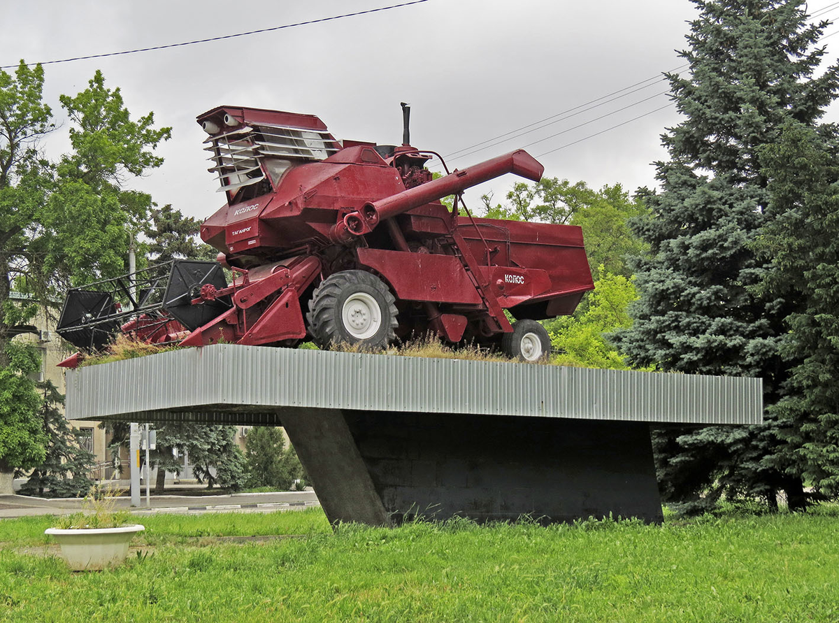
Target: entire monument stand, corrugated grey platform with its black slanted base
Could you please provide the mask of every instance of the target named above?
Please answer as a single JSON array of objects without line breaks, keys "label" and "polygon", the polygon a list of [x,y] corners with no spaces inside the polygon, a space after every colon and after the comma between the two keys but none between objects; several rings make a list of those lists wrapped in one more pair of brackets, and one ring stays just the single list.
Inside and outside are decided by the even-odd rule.
[{"label": "entire monument stand, corrugated grey platform with its black slanted base", "polygon": [[759,424],[760,379],[218,344],[67,374],[73,420],[284,426],[330,521],[661,521],[650,424]]}]

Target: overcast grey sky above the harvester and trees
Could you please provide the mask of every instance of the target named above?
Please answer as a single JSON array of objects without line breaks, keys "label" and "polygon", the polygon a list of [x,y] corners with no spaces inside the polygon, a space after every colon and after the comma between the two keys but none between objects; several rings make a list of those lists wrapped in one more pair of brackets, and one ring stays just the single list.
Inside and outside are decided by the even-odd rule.
[{"label": "overcast grey sky above the harvester and trees", "polygon": [[[397,3],[3,0],[0,65],[211,39]],[[839,18],[831,0],[813,0],[809,10]],[[44,65],[45,97],[61,122],[59,94],[75,95],[101,69],[133,116],[154,111],[160,126],[173,128],[159,149],[164,165],[133,187],[199,218],[224,202],[206,171],[206,134],[195,123],[219,105],[312,113],[338,139],[395,144],[399,102],[409,102],[412,144],[443,154],[450,167],[525,147],[545,175],[595,187],[620,182],[632,191],[654,184],[650,163],[664,156],[659,134],[678,122],[660,74],[683,64],[675,50],[684,48],[695,16],[688,0],[426,0]],[[839,24],[826,34],[835,31]],[[839,37],[825,44],[836,55]],[[66,129],[45,144],[54,157],[69,146]],[[468,205],[477,206],[483,192],[501,199],[512,183],[505,176],[470,191]]]}]

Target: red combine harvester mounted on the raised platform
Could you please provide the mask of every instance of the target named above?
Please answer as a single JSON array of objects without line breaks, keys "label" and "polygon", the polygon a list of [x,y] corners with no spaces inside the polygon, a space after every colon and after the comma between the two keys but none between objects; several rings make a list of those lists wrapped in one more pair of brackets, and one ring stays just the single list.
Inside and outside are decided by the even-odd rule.
[{"label": "red combine harvester mounted on the raised platform", "polygon": [[[432,180],[425,164],[437,154],[410,146],[403,113],[399,146],[341,143],[312,115],[202,114],[210,170],[227,194],[201,225],[218,263],[175,260],[72,290],[58,332],[87,352],[118,332],[185,346],[310,338],[321,348],[434,332],[545,356],[550,340],[535,321],[570,314],[594,287],[580,228],[472,217],[462,191],[505,173],[539,181],[542,165],[518,150]],[[440,203],[451,195],[453,209]]]}]

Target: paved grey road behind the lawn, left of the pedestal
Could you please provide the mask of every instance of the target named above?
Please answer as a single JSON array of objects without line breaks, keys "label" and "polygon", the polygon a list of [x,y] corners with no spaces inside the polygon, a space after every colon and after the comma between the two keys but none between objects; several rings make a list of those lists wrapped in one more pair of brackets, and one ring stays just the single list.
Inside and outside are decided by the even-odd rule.
[{"label": "paved grey road behind the lawn, left of the pedestal", "polygon": [[[154,513],[199,514],[206,512],[273,512],[302,510],[320,503],[314,491],[278,491],[276,493],[234,493],[230,495],[152,495],[146,505],[131,507],[128,497],[117,499],[117,508],[137,515]],[[46,500],[28,495],[0,495],[0,518],[36,515],[70,515],[81,510],[81,499]]]}]

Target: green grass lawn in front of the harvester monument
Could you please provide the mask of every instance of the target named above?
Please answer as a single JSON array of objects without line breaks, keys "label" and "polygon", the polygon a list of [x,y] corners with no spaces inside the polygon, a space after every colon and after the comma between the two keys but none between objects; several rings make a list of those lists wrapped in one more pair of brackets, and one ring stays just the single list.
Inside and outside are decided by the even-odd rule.
[{"label": "green grass lawn in front of the harvester monument", "polygon": [[[289,533],[286,521],[304,520],[300,539],[211,538],[272,522]],[[70,573],[0,539],[0,620],[839,620],[835,508],[664,526],[452,521],[335,534],[314,511],[143,522],[157,539],[151,553],[102,573]],[[33,523],[0,528],[25,541]],[[180,542],[187,536],[206,538]]]}]

